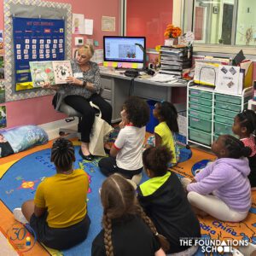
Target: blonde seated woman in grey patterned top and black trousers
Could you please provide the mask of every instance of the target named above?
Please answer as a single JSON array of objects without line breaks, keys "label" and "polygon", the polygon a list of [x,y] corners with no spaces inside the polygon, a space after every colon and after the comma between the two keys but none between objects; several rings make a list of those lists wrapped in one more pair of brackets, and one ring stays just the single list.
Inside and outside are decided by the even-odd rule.
[{"label": "blonde seated woman in grey patterned top and black trousers", "polygon": [[84,160],[93,160],[89,151],[90,131],[95,119],[95,110],[90,106],[93,102],[102,112],[102,119],[111,125],[112,107],[106,102],[101,92],[103,90],[100,69],[95,62],[90,61],[94,54],[91,44],[80,47],[75,59],[71,60],[73,77],[67,78],[67,84],[60,86],[63,90],[64,102],[82,114],[79,123],[81,132],[81,149],[79,154]]}]

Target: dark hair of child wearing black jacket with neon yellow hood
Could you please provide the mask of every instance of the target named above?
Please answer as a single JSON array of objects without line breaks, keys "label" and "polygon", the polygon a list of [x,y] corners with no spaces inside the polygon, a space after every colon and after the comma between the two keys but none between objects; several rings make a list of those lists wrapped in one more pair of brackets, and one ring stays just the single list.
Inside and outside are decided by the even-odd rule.
[{"label": "dark hair of child wearing black jacket with neon yellow hood", "polygon": [[154,177],[165,175],[171,160],[171,151],[163,146],[147,148],[143,152],[143,165],[146,169],[154,172]]}]

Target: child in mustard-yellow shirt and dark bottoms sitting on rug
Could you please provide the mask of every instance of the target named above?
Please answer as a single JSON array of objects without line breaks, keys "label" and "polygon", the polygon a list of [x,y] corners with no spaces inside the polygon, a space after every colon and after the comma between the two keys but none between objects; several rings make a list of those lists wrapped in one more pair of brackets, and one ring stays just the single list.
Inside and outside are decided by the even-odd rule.
[{"label": "child in mustard-yellow shirt and dark bottoms sitting on rug", "polygon": [[60,138],[52,146],[50,160],[56,174],[38,185],[35,199],[15,208],[15,218],[31,225],[45,246],[64,250],[84,241],[90,218],[87,214],[89,179],[80,169],[73,170],[73,144]]}]

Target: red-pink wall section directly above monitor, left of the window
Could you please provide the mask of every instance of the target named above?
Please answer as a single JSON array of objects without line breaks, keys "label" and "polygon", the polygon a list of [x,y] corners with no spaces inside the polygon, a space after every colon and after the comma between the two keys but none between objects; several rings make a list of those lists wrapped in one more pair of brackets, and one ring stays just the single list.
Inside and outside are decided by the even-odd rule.
[{"label": "red-pink wall section directly above monitor, left of the window", "polygon": [[145,36],[147,48],[164,43],[169,23],[172,23],[172,0],[127,1],[126,35]]}]

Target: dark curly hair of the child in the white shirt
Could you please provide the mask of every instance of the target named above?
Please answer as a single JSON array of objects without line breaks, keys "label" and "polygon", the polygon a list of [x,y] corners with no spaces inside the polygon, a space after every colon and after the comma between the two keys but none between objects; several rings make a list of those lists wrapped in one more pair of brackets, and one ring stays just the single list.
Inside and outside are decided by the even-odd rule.
[{"label": "dark curly hair of the child in the white shirt", "polygon": [[127,119],[136,127],[143,127],[149,121],[149,107],[147,102],[131,96],[125,101],[123,108],[127,114]]}]

